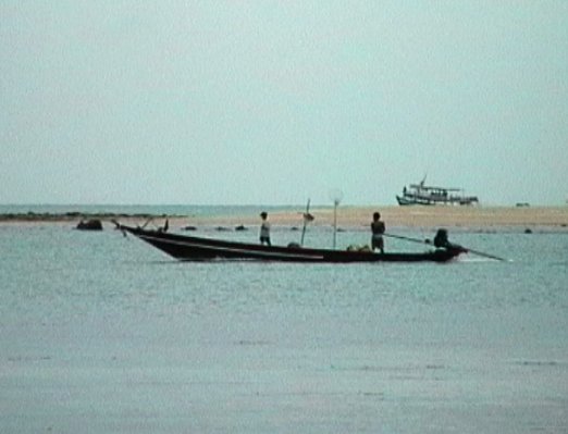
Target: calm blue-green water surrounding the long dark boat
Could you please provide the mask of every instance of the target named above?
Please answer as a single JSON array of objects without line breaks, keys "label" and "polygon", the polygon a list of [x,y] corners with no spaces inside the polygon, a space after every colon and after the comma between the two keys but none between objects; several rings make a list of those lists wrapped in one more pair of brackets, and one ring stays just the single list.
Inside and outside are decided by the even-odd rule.
[{"label": "calm blue-green water surrounding the long dark boat", "polygon": [[326,265],[180,263],[72,226],[0,225],[2,433],[568,432],[567,233],[450,228],[510,261]]}]

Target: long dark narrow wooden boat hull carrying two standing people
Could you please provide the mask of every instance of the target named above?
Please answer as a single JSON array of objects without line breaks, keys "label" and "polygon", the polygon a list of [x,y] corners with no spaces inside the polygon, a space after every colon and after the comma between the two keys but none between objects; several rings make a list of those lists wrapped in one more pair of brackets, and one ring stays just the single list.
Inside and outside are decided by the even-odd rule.
[{"label": "long dark narrow wooden boat hull carrying two standing people", "polygon": [[373,252],[361,250],[314,249],[295,246],[263,246],[206,237],[186,236],[160,230],[146,230],[116,223],[116,228],[132,234],[181,261],[256,260],[281,262],[447,262],[465,250],[431,249],[424,252]]}]

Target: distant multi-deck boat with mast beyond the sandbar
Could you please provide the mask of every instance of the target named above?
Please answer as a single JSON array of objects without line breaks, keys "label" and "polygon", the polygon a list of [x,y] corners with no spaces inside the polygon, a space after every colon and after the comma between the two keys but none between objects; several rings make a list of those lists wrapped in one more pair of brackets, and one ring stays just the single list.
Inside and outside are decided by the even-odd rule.
[{"label": "distant multi-deck boat with mast beyond the sandbar", "polygon": [[446,188],[425,185],[425,176],[419,184],[404,187],[403,195],[396,196],[400,206],[409,204],[477,204],[477,196],[466,196],[462,188]]}]

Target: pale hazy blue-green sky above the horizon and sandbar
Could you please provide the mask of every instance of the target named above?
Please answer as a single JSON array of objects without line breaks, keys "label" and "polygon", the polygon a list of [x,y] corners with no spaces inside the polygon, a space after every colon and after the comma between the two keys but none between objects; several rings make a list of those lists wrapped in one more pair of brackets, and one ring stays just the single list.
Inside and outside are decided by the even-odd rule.
[{"label": "pale hazy blue-green sky above the horizon and sandbar", "polygon": [[568,198],[568,1],[0,2],[0,203]]}]

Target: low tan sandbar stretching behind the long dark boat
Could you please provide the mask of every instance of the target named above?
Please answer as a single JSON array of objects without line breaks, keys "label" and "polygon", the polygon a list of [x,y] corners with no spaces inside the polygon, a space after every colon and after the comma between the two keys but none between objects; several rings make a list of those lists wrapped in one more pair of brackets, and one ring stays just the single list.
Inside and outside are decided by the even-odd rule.
[{"label": "low tan sandbar stretching behind the long dark boat", "polygon": [[[260,208],[259,208],[260,210]],[[339,227],[368,226],[372,213],[380,211],[387,227],[557,227],[568,231],[568,206],[566,207],[339,207],[337,225]],[[311,225],[333,225],[333,209],[313,208],[316,218]],[[157,224],[164,220],[161,214],[122,214],[122,213],[4,213],[0,214],[0,224],[14,223],[54,223],[76,224],[82,220],[97,219],[104,224],[118,220],[125,224],[144,224],[152,219]],[[272,225],[301,226],[301,211],[272,211],[269,213]],[[257,225],[259,215],[169,215],[170,227],[187,226],[237,226]]]}]

